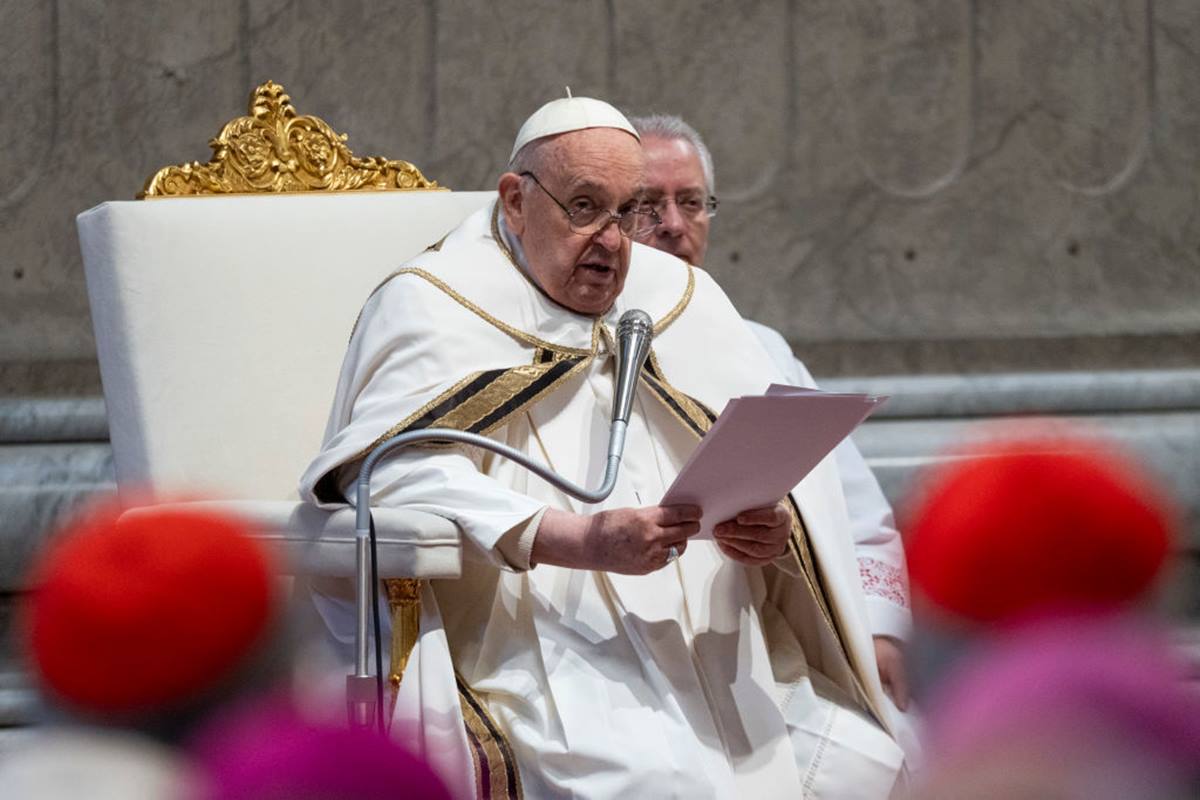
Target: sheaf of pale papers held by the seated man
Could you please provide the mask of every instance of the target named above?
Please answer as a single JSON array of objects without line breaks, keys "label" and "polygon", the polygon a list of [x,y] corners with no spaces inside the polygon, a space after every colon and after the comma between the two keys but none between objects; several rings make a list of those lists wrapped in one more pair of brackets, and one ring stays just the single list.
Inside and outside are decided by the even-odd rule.
[{"label": "sheaf of pale papers held by the seated man", "polygon": [[661,505],[703,509],[701,539],[739,512],[774,505],[887,398],[773,384],[736,397],[667,489]]}]

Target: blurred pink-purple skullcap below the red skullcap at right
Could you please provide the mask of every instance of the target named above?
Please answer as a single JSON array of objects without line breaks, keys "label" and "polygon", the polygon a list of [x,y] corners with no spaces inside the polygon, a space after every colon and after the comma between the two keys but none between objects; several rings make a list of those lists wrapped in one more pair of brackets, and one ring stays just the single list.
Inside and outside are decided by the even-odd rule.
[{"label": "blurred pink-purple skullcap below the red skullcap at right", "polygon": [[991,642],[928,705],[931,765],[1050,740],[1063,757],[1067,747],[1111,756],[1115,745],[1130,763],[1145,753],[1200,777],[1196,676],[1146,625],[1063,618]]}]

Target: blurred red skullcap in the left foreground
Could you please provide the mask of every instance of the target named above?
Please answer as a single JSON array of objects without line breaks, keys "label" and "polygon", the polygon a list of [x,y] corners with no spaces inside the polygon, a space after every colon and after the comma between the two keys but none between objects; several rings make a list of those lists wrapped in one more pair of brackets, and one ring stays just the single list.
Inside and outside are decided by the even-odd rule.
[{"label": "blurred red skullcap in the left foreground", "polygon": [[272,616],[245,523],[209,511],[94,513],[35,571],[28,645],[43,685],[94,714],[184,703],[230,676]]}]

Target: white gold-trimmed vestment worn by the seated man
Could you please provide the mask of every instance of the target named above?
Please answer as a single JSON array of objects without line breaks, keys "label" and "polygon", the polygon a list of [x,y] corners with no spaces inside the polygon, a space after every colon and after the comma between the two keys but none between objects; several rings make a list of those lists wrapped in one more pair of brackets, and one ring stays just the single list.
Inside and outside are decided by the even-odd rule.
[{"label": "white gold-trimmed vestment worn by the seated man", "polygon": [[[473,215],[367,301],[325,447],[301,482],[307,499],[336,501],[330,485],[347,483],[337,469],[414,421],[452,407],[456,427],[469,429],[496,413],[479,399],[491,387],[480,386],[512,367],[521,371],[502,387],[517,392],[502,404],[504,423],[480,426],[598,486],[610,343],[629,308],[656,323],[660,377],[715,411],[781,379],[703,271],[634,245],[624,291],[595,319],[532,285],[497,242],[496,224],[493,209]],[[570,369],[551,390],[529,402],[512,389],[532,365],[556,357]],[[522,571],[505,558],[502,542],[546,506],[588,513],[659,501],[697,441],[660,397],[644,383],[638,390],[617,487],[596,506],[476,449],[409,449],[380,463],[373,504],[446,517],[463,535],[462,578],[425,591],[397,718],[418,720],[418,742],[460,796],[475,784],[456,760],[467,756],[451,752],[470,747],[452,670],[506,736],[526,796],[886,796],[901,759],[884,733],[894,706],[878,682],[832,459],[793,492],[828,614],[798,559],[749,569],[706,541],[646,576]],[[348,600],[318,599],[342,640],[353,634]]]}]

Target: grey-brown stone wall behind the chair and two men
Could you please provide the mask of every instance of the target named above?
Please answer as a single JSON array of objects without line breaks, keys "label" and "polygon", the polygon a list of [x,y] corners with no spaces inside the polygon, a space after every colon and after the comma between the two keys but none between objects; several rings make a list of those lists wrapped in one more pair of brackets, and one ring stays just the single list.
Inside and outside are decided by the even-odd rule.
[{"label": "grey-brown stone wall behind the chair and two men", "polygon": [[96,387],[73,217],[271,78],[490,188],[564,85],[708,138],[709,269],[818,375],[1200,361],[1193,0],[10,0],[0,389]]}]

